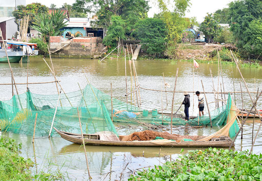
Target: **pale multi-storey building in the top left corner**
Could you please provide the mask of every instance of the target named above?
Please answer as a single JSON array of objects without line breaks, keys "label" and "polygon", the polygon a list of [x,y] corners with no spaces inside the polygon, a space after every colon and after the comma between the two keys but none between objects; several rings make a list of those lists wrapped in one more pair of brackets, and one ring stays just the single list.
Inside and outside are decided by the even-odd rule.
[{"label": "pale multi-storey building in the top left corner", "polygon": [[13,16],[12,12],[16,9],[17,6],[26,6],[26,0],[1,0],[0,2],[0,17]]}]

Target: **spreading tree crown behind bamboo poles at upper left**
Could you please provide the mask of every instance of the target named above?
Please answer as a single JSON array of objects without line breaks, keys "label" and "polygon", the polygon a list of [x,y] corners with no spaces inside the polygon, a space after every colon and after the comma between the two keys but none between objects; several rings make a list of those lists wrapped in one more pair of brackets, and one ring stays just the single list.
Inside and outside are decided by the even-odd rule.
[{"label": "spreading tree crown behind bamboo poles at upper left", "polygon": [[28,26],[31,27],[33,25],[34,22],[34,17],[36,14],[39,13],[48,13],[48,7],[46,7],[45,5],[42,5],[40,3],[32,3],[32,4],[28,4],[26,6],[23,5],[19,5],[16,7],[16,10],[14,10],[13,12],[13,16],[16,19],[22,19],[25,17],[25,15],[29,14],[29,24]]}]

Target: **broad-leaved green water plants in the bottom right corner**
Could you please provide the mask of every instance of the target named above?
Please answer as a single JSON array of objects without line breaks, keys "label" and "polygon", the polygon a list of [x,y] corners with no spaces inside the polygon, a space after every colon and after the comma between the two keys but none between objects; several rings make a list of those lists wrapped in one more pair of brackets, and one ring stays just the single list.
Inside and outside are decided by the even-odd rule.
[{"label": "broad-leaved green water plants in the bottom right corner", "polygon": [[130,176],[131,180],[261,180],[262,154],[223,149],[190,151],[176,162],[166,162]]}]

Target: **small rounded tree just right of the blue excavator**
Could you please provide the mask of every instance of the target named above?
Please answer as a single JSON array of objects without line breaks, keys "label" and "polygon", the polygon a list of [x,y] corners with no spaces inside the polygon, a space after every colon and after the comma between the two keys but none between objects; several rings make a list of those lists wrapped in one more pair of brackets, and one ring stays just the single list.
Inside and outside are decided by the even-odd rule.
[{"label": "small rounded tree just right of the blue excavator", "polygon": [[216,36],[220,30],[218,22],[212,17],[212,14],[209,14],[204,17],[204,21],[201,23],[199,30],[203,32],[205,37],[208,37],[209,43],[212,36]]}]

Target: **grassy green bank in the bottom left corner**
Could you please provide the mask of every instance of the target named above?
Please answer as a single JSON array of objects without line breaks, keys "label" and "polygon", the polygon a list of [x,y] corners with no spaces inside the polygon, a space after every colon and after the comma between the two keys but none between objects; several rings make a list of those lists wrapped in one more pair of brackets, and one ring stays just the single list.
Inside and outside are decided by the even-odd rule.
[{"label": "grassy green bank in the bottom left corner", "polygon": [[31,172],[34,163],[19,155],[22,145],[15,144],[13,139],[1,136],[0,138],[0,178],[1,180],[65,180],[64,173],[59,171]]}]

